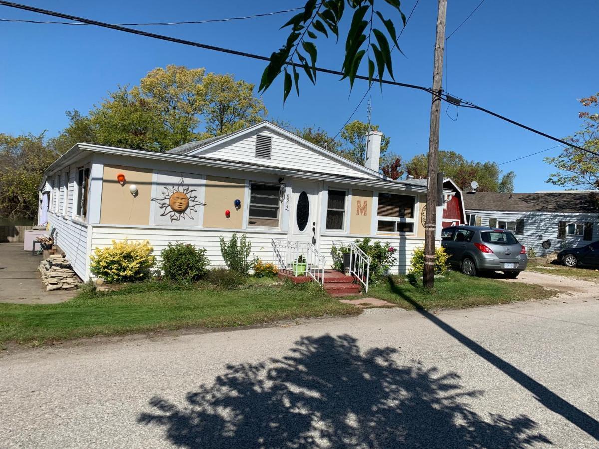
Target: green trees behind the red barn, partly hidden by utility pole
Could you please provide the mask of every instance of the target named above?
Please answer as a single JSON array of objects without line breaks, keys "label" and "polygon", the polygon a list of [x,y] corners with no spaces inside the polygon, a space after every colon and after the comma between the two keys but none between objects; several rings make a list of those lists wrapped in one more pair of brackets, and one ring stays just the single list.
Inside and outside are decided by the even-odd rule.
[{"label": "green trees behind the red barn, partly hidden by utility pole", "polygon": [[[470,183],[477,181],[480,192],[513,192],[515,173],[510,171],[500,178],[501,170],[495,162],[467,160],[455,151],[440,150],[438,168],[462,190],[470,190]],[[426,154],[416,154],[407,162],[406,169],[415,178],[426,177],[428,157]]]}]

